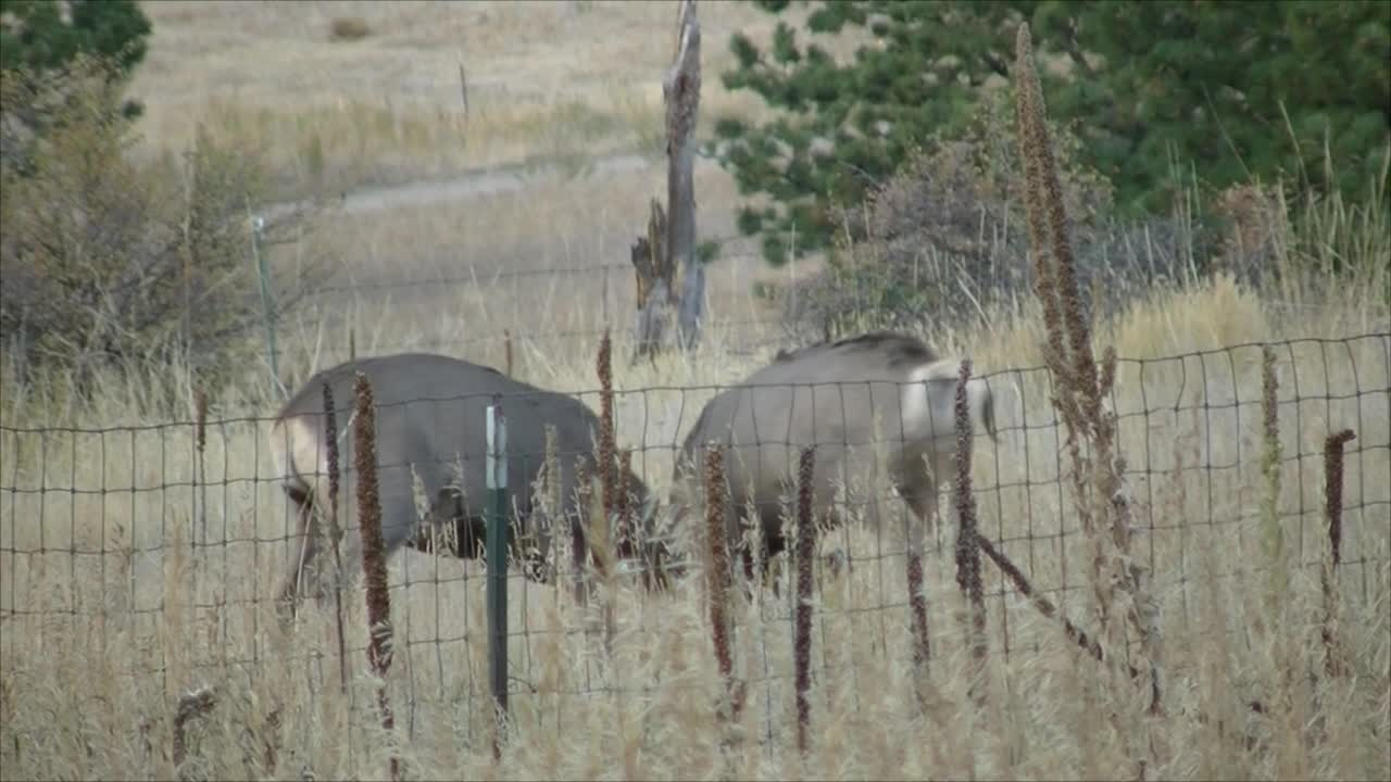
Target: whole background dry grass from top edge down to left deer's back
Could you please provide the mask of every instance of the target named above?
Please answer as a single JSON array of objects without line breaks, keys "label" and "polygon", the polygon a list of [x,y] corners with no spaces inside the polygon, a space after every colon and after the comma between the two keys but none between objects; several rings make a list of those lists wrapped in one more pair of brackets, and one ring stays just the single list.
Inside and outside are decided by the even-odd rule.
[{"label": "whole background dry grass from top edge down to left deer's back", "polygon": [[[281,366],[321,366],[346,355],[349,340],[363,352],[467,349],[501,363],[509,330],[526,374],[538,351],[577,349],[627,326],[629,245],[648,199],[665,193],[661,77],[675,3],[168,1],[147,13],[156,33],[132,86],[147,104],[139,149],[182,152],[202,121],[262,150],[285,198],[334,202],[314,237],[331,259],[330,282],[377,285],[324,291],[282,321],[284,341],[313,349]],[[371,35],[334,43],[324,31],[338,18],[362,19]],[[775,18],[715,3],[700,19],[702,121],[757,113],[757,99],[726,92],[718,72],[732,31],[769,35]],[[723,241],[707,277],[711,309],[734,321],[773,317],[754,284],[814,273],[815,263],[766,269],[753,241],[734,238],[732,177],[702,160],[696,179],[700,234]],[[280,285],[303,255],[299,245],[271,250]],[[622,269],[601,269],[613,264]],[[574,271],[509,277],[558,267]],[[451,284],[428,282],[441,278]],[[513,301],[529,303],[502,305]],[[533,338],[570,333],[576,340]],[[292,370],[287,380],[303,377]]]}]

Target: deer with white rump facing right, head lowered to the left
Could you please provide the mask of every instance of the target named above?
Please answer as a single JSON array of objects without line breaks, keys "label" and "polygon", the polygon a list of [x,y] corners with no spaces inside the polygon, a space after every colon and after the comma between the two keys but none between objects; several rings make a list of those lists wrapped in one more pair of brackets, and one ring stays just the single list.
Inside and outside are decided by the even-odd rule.
[{"label": "deer with white rump facing right, head lowered to the left", "polygon": [[[958,360],[940,358],[919,340],[886,331],[780,351],[701,410],[676,459],[673,520],[684,515],[686,500],[701,497],[705,445],[721,447],[732,551],[741,552],[753,579],[753,552],[737,520],[753,505],[766,575],[768,561],[786,548],[780,498],[796,495],[797,455],[815,445],[818,525],[843,520],[833,508],[837,479],[865,477],[882,466],[919,522],[910,523],[907,534],[910,551],[921,554],[924,525],[936,525],[938,488],[954,474],[958,367]],[[975,429],[996,440],[989,387],[971,378],[967,398]],[[878,523],[874,501],[868,518]]]}]

